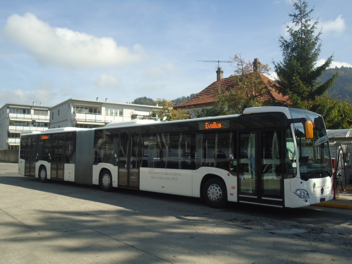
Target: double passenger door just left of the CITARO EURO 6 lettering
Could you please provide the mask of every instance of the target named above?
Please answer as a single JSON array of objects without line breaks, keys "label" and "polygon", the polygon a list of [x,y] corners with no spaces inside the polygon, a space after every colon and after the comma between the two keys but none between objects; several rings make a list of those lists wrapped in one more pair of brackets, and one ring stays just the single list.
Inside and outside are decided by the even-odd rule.
[{"label": "double passenger door just left of the CITARO EURO 6 lettering", "polygon": [[138,189],[141,162],[139,134],[124,132],[120,137],[118,186]]}]

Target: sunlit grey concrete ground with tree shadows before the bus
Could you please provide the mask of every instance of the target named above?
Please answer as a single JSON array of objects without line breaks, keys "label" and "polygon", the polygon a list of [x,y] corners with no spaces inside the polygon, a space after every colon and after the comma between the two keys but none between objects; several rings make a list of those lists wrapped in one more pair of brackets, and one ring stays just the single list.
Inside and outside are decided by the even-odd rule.
[{"label": "sunlit grey concrete ground with tree shadows before the bus", "polygon": [[352,261],[352,221],[319,227],[249,217],[188,197],[43,184],[0,163],[0,263]]}]

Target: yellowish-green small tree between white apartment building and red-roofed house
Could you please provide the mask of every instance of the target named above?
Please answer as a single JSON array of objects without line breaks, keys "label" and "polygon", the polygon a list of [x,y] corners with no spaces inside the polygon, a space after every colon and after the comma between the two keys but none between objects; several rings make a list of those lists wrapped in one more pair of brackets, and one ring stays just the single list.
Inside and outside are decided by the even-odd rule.
[{"label": "yellowish-green small tree between white apartment building and red-roofed house", "polygon": [[186,109],[174,109],[174,102],[165,99],[160,99],[155,101],[155,104],[161,106],[162,109],[157,111],[157,119],[160,121],[171,121],[171,120],[181,120],[189,119],[190,113]]}]

